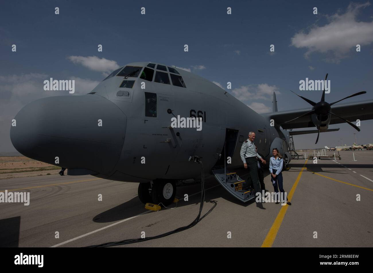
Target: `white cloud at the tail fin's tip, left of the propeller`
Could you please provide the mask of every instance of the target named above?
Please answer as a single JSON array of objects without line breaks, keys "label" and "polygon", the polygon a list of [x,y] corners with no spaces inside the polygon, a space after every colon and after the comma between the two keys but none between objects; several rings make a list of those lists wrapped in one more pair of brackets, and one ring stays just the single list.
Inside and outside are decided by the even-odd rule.
[{"label": "white cloud at the tail fin's tip, left of the propeller", "polygon": [[241,86],[239,88],[235,88],[232,90],[233,95],[245,102],[247,100],[253,99],[264,99],[264,100],[272,100],[273,92],[276,91],[276,94],[280,94],[278,91],[278,87],[275,85],[270,86],[266,83],[262,84],[250,84],[247,86]]}]

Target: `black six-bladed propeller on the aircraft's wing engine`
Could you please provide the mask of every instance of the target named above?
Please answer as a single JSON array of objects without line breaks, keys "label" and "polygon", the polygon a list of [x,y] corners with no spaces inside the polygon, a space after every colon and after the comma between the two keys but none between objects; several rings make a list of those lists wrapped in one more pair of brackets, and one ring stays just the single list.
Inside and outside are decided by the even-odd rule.
[{"label": "black six-bladed propeller on the aircraft's wing engine", "polygon": [[[326,73],[326,76],[325,76],[325,81],[327,79],[327,73]],[[324,82],[325,83],[325,82]],[[291,90],[290,90],[291,91]],[[293,92],[293,91],[292,91]],[[344,99],[348,99],[350,97],[354,97],[354,96],[358,96],[358,95],[361,95],[361,94],[365,94],[367,93],[366,91],[361,91],[361,92],[358,92],[358,93],[355,93],[355,94],[352,94],[350,96],[347,96],[343,99],[340,99],[340,100],[337,100],[336,102],[333,102],[333,103],[327,103],[325,101],[325,84],[324,84],[324,90],[323,90],[323,94],[321,96],[321,100],[319,102],[313,102],[312,100],[309,100],[305,97],[302,97],[300,95],[298,95],[297,93],[293,92],[294,94],[296,94],[298,97],[301,97],[302,99],[304,99],[306,102],[308,102],[310,105],[312,105],[312,110],[311,111],[308,111],[307,113],[303,114],[303,115],[300,115],[299,117],[296,117],[296,118],[293,118],[292,120],[289,120],[289,121],[286,121],[285,123],[287,122],[290,122],[290,121],[293,121],[293,120],[296,120],[297,118],[301,118],[301,117],[305,117],[305,116],[308,116],[308,115],[312,115],[312,114],[316,114],[318,119],[319,119],[319,131],[317,133],[317,139],[316,139],[316,143],[319,141],[319,135],[320,135],[320,127],[321,127],[321,122],[322,122],[322,117],[323,116],[326,116],[327,114],[330,114],[330,115],[333,115],[337,118],[340,118],[341,120],[347,122],[348,124],[350,124],[352,127],[354,127],[356,130],[358,130],[360,132],[360,128],[357,127],[355,124],[352,124],[350,121],[348,120],[345,120],[344,118],[342,117],[339,117],[338,115],[334,114],[332,111],[331,111],[331,107],[333,104],[337,103],[337,102],[340,102],[341,100],[344,100]]]}]

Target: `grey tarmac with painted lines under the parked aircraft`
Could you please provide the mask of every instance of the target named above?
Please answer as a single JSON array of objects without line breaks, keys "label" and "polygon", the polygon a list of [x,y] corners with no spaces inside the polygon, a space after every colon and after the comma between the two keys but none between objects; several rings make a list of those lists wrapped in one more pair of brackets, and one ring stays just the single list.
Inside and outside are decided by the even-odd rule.
[{"label": "grey tarmac with painted lines under the parked aircraft", "polygon": [[[354,151],[356,161],[352,151],[339,153],[342,159],[336,161],[291,161],[291,169],[283,172],[291,206],[271,202],[260,208],[254,199],[242,203],[213,176],[208,177],[204,218],[196,226],[125,246],[372,247],[373,151]],[[247,173],[244,168],[239,171]],[[264,183],[273,192],[268,170]],[[0,203],[0,246],[89,246],[140,238],[141,232],[147,237],[159,235],[197,217],[201,184],[178,187],[177,207],[171,204],[176,208],[157,212],[144,208],[137,188],[137,183],[93,176],[0,180],[2,192],[30,192],[28,206]],[[188,201],[184,194],[189,195]]]}]

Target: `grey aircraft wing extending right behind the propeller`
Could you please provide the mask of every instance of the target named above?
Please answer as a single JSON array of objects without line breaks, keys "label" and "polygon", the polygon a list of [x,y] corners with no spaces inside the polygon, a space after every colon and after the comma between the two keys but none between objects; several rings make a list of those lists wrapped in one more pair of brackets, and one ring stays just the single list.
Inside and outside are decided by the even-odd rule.
[{"label": "grey aircraft wing extending right behind the propeller", "polygon": [[[311,120],[311,115],[297,118],[294,121],[287,122],[293,118],[299,117],[309,111],[310,108],[285,110],[280,112],[272,112],[262,114],[263,117],[268,118],[268,120],[273,119],[276,124],[280,124],[283,129],[292,128],[305,128],[305,127],[315,127]],[[356,120],[372,120],[373,119],[373,100],[361,100],[358,102],[347,102],[332,105],[332,113],[338,115],[339,117],[345,118],[350,122],[355,122]],[[340,118],[332,115],[329,124],[345,123]]]}]

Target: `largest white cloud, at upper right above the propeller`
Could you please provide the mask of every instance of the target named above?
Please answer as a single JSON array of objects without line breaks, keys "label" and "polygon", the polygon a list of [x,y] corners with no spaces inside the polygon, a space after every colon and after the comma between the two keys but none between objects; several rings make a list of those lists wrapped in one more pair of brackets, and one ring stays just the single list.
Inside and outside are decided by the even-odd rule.
[{"label": "largest white cloud, at upper right above the propeller", "polygon": [[291,45],[297,48],[305,47],[305,57],[309,58],[313,52],[331,53],[327,61],[339,62],[347,56],[351,48],[357,44],[373,43],[373,21],[358,22],[356,16],[361,8],[370,3],[351,3],[344,14],[327,16],[329,24],[322,27],[313,26],[308,33],[298,32],[291,38]]}]

